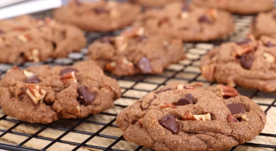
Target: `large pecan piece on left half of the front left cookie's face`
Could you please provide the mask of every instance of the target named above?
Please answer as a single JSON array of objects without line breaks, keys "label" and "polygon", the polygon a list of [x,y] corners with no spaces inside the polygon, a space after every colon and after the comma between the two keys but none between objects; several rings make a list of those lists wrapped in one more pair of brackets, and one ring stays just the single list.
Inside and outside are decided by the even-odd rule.
[{"label": "large pecan piece on left half of the front left cookie's face", "polygon": [[41,89],[36,84],[27,84],[26,93],[31,98],[31,100],[33,101],[34,105],[37,105],[38,103],[42,103],[43,102],[43,99],[46,96],[47,91],[44,90],[44,89]]}]

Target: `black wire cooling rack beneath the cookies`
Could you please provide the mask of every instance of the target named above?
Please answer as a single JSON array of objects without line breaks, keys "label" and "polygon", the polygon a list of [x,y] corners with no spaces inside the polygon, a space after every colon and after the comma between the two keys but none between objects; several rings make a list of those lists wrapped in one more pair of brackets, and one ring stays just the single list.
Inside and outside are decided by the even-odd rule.
[{"label": "black wire cooling rack beneath the cookies", "polygon": [[[114,77],[121,86],[122,98],[114,102],[115,106],[97,115],[84,119],[59,120],[51,124],[32,124],[22,122],[5,115],[0,110],[0,149],[7,150],[152,150],[123,139],[122,130],[117,127],[115,119],[118,113],[128,105],[133,104],[148,92],[173,81],[185,83],[202,82],[205,86],[216,85],[201,77],[198,64],[200,58],[209,49],[224,41],[239,41],[250,31],[252,16],[233,16],[235,32],[219,41],[208,43],[187,43],[185,51],[189,59],[171,64],[160,75],[135,75],[132,77]],[[90,43],[104,35],[113,33],[87,33]],[[46,62],[19,64],[27,67],[38,64],[73,64],[85,59],[87,49],[71,53],[67,58],[49,59]],[[0,73],[4,74],[12,64],[1,64]],[[240,94],[248,96],[266,113],[267,123],[262,133],[255,139],[231,150],[276,150],[276,92],[265,93],[257,90],[236,87]]]}]

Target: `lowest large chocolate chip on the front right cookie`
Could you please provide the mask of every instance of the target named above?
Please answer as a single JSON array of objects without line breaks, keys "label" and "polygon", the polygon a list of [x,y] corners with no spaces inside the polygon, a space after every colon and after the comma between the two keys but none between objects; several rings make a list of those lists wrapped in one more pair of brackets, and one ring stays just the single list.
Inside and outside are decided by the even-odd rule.
[{"label": "lowest large chocolate chip on the front right cookie", "polygon": [[172,134],[178,134],[179,132],[179,127],[178,124],[175,120],[175,117],[171,114],[168,114],[166,116],[164,116],[159,123],[167,128],[168,130],[170,130],[172,132]]}]

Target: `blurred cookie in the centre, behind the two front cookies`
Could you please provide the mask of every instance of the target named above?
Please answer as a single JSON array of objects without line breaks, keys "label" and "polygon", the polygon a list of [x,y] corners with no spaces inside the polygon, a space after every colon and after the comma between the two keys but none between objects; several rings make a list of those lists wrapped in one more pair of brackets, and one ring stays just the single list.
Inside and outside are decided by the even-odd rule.
[{"label": "blurred cookie in the centre, behind the two front cookies", "polygon": [[170,63],[185,59],[183,43],[162,35],[147,35],[144,28],[131,28],[116,37],[103,37],[88,48],[91,59],[111,73],[161,74]]}]

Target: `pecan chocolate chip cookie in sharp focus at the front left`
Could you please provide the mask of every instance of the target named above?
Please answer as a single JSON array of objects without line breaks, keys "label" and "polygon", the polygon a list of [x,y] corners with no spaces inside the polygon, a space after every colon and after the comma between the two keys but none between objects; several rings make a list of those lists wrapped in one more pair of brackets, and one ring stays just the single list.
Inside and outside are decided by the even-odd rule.
[{"label": "pecan chocolate chip cookie in sharp focus at the front left", "polygon": [[72,66],[14,66],[0,85],[3,112],[30,123],[83,118],[112,107],[120,96],[116,80],[91,60]]}]

